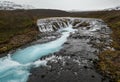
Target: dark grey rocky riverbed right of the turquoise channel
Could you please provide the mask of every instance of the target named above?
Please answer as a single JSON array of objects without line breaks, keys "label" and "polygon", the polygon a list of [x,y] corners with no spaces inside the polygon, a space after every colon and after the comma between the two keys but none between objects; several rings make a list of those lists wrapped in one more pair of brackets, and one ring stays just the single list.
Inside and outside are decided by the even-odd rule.
[{"label": "dark grey rocky riverbed right of the turquoise channel", "polygon": [[41,58],[47,65],[33,68],[28,82],[110,82],[95,63],[99,53],[111,49],[111,30],[102,20],[76,29],[59,52]]}]

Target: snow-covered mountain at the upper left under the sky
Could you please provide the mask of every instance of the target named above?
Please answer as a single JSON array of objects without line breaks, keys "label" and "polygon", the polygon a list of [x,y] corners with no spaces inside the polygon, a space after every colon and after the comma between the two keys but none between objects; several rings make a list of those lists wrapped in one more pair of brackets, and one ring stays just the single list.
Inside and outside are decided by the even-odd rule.
[{"label": "snow-covered mountain at the upper left under the sky", "polygon": [[10,1],[0,1],[0,10],[33,9],[31,5],[16,4]]}]

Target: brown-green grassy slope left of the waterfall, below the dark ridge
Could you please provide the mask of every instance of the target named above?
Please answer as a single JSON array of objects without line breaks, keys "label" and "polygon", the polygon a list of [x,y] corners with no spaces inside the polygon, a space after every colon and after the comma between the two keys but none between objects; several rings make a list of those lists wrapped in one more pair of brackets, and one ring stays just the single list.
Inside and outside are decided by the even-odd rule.
[{"label": "brown-green grassy slope left of the waterfall, below the dark ridge", "polygon": [[0,11],[0,53],[32,41],[37,34],[32,16],[16,11]]}]

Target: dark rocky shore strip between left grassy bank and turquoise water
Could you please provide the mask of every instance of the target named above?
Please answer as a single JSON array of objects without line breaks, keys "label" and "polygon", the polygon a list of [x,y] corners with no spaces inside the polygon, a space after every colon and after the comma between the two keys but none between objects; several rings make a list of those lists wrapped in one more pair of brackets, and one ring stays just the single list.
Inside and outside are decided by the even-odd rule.
[{"label": "dark rocky shore strip between left grassy bank and turquoise water", "polygon": [[[42,33],[42,34],[39,33],[37,36],[35,36],[35,37],[37,37],[35,40],[28,42],[27,44],[23,44],[20,47],[13,48],[12,50],[7,51],[5,53],[1,53],[0,58],[7,56],[8,54],[12,54],[19,49],[24,49],[24,48],[32,46],[32,45],[44,44],[44,43],[53,41],[61,36],[58,32],[53,32],[53,33],[50,32],[49,34],[53,35],[54,37],[50,38],[50,35],[47,35],[47,33]],[[55,36],[55,34],[56,34],[56,36]],[[46,38],[44,38],[44,37],[46,37]]]}]

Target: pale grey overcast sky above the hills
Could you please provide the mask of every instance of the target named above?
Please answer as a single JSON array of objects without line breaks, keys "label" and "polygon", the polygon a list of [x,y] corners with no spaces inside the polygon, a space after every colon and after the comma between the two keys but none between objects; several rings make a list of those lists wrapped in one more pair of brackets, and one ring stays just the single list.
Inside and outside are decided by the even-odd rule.
[{"label": "pale grey overcast sky above the hills", "polygon": [[[4,1],[4,0],[0,0]],[[62,10],[97,10],[120,5],[120,0],[6,0],[35,8]]]}]

